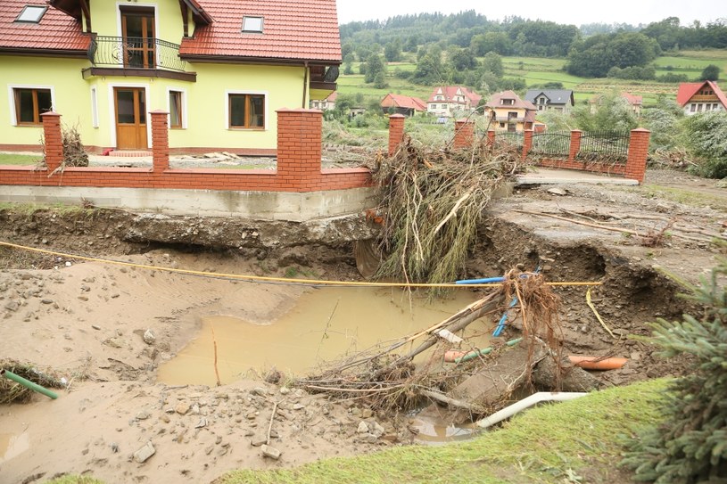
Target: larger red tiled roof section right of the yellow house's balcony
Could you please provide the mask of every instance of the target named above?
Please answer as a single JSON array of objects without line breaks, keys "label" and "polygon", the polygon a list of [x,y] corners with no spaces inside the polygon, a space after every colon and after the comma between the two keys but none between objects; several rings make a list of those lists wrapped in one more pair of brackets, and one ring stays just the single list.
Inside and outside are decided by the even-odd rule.
[{"label": "larger red tiled roof section right of the yellow house's balcony", "polygon": [[[183,57],[341,62],[335,0],[197,0],[214,21],[182,40]],[[243,17],[263,17],[263,32],[243,33]]]}]

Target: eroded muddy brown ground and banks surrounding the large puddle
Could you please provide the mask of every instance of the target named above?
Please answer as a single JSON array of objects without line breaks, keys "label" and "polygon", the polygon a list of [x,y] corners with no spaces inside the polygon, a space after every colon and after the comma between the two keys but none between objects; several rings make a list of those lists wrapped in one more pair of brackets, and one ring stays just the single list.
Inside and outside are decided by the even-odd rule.
[{"label": "eroded muddy brown ground and banks surrounding the large puddle", "polygon": [[[647,334],[655,317],[694,309],[655,267],[692,282],[706,274],[717,250],[704,239],[723,233],[725,207],[727,190],[679,172],[649,171],[641,187],[516,189],[492,204],[467,276],[502,275],[519,265],[540,267],[549,281],[602,283],[591,299],[614,336],[586,305],[584,286],[556,289],[566,351],[629,358],[623,369],[599,374],[604,385],[680,373],[681,362],[660,360],[648,344],[627,336]],[[662,230],[669,223],[674,229]],[[296,267],[332,280],[359,278],[351,241],[375,231],[360,216],[310,226],[119,210],[0,211],[3,242],[225,274],[285,275]],[[645,246],[641,234],[652,241],[661,236]],[[197,315],[273,322],[304,288],[6,247],[0,267],[0,357],[37,365],[69,384],[57,400],[35,396],[27,405],[0,406],[2,482],[40,482],[65,472],[108,482],[206,482],[234,468],[292,466],[412,438],[406,416],[284,389],[265,375],[218,388],[157,383],[157,366],[194,338]],[[262,455],[268,429],[269,445],[282,451],[277,460]],[[139,463],[144,455],[134,454],[148,442],[155,454]]]}]

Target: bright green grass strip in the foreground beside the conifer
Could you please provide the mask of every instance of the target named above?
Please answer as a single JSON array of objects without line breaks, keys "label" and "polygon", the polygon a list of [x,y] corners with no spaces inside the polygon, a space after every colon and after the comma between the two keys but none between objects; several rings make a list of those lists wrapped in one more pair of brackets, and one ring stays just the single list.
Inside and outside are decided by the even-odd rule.
[{"label": "bright green grass strip in the foreground beside the conifer", "polygon": [[[395,447],[279,471],[235,471],[219,484],[624,482],[624,436],[661,419],[665,380],[593,393],[521,414],[499,431],[443,447]],[[582,477],[587,474],[587,477]]]}]

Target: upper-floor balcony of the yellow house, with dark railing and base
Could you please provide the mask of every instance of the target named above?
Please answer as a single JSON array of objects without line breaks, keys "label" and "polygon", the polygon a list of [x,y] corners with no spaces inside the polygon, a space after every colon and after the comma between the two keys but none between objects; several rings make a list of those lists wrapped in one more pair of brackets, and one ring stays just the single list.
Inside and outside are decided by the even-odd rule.
[{"label": "upper-floor balcony of the yellow house, with dark railing and base", "polygon": [[83,70],[84,78],[125,76],[196,80],[179,58],[179,45],[160,38],[96,36],[88,47],[93,67]]}]

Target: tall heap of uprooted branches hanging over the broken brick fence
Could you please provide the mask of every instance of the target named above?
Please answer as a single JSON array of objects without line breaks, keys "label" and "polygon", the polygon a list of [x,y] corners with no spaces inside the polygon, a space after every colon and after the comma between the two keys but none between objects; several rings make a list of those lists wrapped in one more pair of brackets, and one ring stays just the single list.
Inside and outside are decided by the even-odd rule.
[{"label": "tall heap of uprooted branches hanging over the broken brick fence", "polygon": [[516,150],[475,144],[436,151],[404,140],[376,172],[383,201],[377,276],[407,282],[451,283],[475,242],[483,209],[508,176],[525,163]]}]

